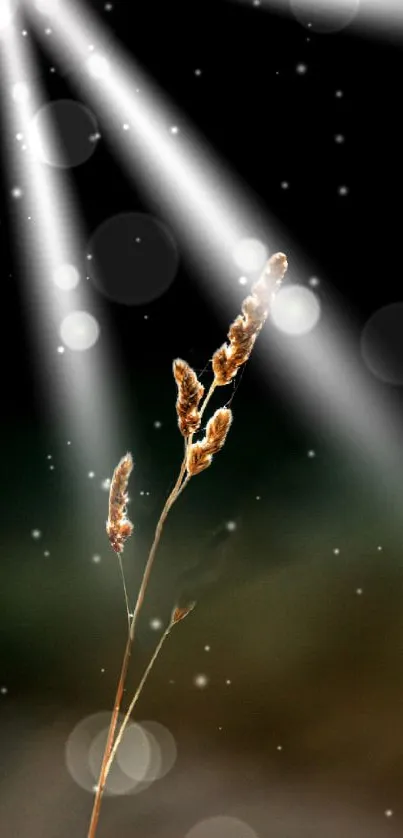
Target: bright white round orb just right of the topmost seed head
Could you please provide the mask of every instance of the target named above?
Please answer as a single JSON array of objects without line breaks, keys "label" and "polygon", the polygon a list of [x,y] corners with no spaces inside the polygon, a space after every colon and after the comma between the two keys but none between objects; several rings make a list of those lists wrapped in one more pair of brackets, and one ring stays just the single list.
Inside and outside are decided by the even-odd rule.
[{"label": "bright white round orb just right of the topmost seed head", "polygon": [[319,301],[309,288],[289,285],[277,292],[270,316],[281,332],[305,335],[312,331],[319,320]]}]

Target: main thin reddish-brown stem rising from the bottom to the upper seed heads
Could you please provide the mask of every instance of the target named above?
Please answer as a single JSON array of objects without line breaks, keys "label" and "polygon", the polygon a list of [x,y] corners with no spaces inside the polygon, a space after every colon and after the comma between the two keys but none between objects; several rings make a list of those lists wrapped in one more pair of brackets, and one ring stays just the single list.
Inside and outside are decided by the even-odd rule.
[{"label": "main thin reddish-brown stem rising from the bottom to the upper seed heads", "polygon": [[175,500],[177,498],[178,490],[180,488],[183,476],[184,476],[185,471],[186,471],[186,450],[187,450],[187,444],[186,444],[186,440],[185,440],[185,455],[184,455],[182,466],[181,466],[181,469],[180,469],[180,472],[179,472],[179,475],[178,475],[178,479],[175,483],[174,488],[172,489],[172,492],[170,493],[170,495],[168,496],[168,498],[166,500],[165,506],[164,506],[164,508],[161,512],[159,521],[157,523],[157,527],[156,527],[155,535],[154,535],[154,541],[152,543],[151,550],[150,550],[150,553],[148,555],[147,563],[146,563],[144,573],[143,573],[143,578],[142,578],[141,584],[140,584],[140,589],[139,589],[139,592],[138,592],[138,595],[137,595],[137,601],[136,601],[136,605],[135,605],[135,608],[134,608],[133,617],[132,617],[132,620],[131,620],[131,623],[130,623],[129,636],[127,638],[126,648],[125,648],[124,655],[123,655],[122,667],[121,667],[119,682],[118,682],[118,686],[117,686],[117,690],[116,690],[114,708],[113,708],[113,712],[112,712],[111,722],[110,722],[110,725],[109,725],[109,731],[108,731],[108,736],[107,736],[107,740],[106,740],[105,750],[104,750],[104,754],[103,754],[103,757],[102,757],[99,780],[98,780],[98,784],[97,784],[97,787],[96,787],[95,799],[94,799],[94,804],[93,804],[93,809],[92,809],[92,814],[91,814],[91,821],[90,821],[90,825],[89,825],[87,838],[95,838],[95,835],[96,835],[96,830],[97,830],[98,821],[99,821],[99,814],[100,814],[100,810],[101,810],[101,801],[102,801],[102,797],[103,797],[103,793],[104,793],[104,789],[105,789],[106,765],[107,765],[107,762],[108,762],[108,759],[109,759],[109,756],[110,756],[110,753],[111,753],[111,750],[112,750],[113,740],[114,740],[114,737],[115,737],[115,731],[116,731],[116,726],[117,726],[117,721],[118,721],[118,716],[119,716],[119,711],[120,711],[120,705],[122,703],[124,686],[125,686],[126,677],[127,677],[127,670],[128,670],[128,667],[129,667],[130,655],[131,655],[131,650],[132,650],[134,636],[135,636],[135,628],[136,628],[136,624],[137,624],[137,619],[138,619],[141,607],[143,605],[144,596],[145,596],[148,581],[149,581],[149,578],[150,578],[151,569],[152,569],[152,566],[153,566],[153,563],[154,563],[155,554],[157,552],[158,544],[159,544],[159,541],[160,541],[160,538],[161,538],[162,529],[163,529],[166,517],[168,515],[168,512],[171,509],[171,507],[173,506],[173,504],[175,503]]}]

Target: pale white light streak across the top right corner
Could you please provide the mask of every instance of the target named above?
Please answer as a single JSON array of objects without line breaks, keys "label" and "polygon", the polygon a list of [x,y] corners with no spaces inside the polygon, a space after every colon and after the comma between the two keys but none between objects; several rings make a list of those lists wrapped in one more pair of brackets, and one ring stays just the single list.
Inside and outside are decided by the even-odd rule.
[{"label": "pale white light streak across the top right corner", "polygon": [[[243,6],[293,15],[317,32],[337,32],[346,27],[374,35],[403,33],[401,0],[229,0]],[[397,27],[397,30],[396,30]]]}]

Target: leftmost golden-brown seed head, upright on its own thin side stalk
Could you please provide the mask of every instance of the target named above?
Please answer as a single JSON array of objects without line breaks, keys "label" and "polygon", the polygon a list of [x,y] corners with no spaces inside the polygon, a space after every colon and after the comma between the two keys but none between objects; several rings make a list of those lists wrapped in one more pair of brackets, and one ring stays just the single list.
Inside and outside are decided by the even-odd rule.
[{"label": "leftmost golden-brown seed head, upright on its own thin side stalk", "polygon": [[133,532],[133,524],[127,518],[127,486],[133,469],[132,455],[128,452],[113,472],[109,491],[109,516],[106,532],[115,553],[123,553],[125,541]]}]

